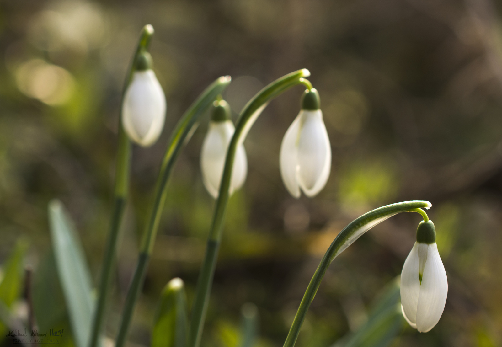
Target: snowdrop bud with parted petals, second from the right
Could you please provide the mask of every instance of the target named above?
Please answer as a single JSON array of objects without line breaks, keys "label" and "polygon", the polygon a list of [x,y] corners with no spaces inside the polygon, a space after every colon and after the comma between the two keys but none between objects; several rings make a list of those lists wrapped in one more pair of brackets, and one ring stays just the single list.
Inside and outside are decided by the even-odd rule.
[{"label": "snowdrop bud with parted petals, second from the right", "polygon": [[306,90],[302,109],[284,135],[279,164],[284,185],[299,198],[300,188],[313,197],[326,185],[331,171],[331,145],[319,109],[319,93]]}]

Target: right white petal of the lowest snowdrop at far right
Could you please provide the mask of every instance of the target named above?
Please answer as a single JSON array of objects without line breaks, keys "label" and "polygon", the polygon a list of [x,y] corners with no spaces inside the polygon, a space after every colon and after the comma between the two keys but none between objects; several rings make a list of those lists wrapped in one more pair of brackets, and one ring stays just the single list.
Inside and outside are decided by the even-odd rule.
[{"label": "right white petal of the lowest snowdrop at far right", "polygon": [[434,243],[428,247],[427,261],[420,286],[417,306],[418,331],[427,332],[437,324],[443,314],[447,294],[446,271],[439,256],[438,247]]}]

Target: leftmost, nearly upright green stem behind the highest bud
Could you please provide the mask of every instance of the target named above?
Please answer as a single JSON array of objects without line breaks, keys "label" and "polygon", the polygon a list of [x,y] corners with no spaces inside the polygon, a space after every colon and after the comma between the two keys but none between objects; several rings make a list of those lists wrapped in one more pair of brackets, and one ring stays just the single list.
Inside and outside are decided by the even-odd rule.
[{"label": "leftmost, nearly upright green stem behind the highest bud", "polygon": [[[153,34],[154,28],[151,25],[146,25],[145,27],[143,27],[138,46],[136,48],[136,53],[134,54],[131,65],[129,67],[129,73],[126,77],[126,80],[124,81],[122,89],[122,100],[133,78],[136,61],[138,60],[138,57],[141,55],[141,53],[148,49],[150,39],[152,38]],[[129,188],[129,176],[131,169],[131,142],[129,141],[129,137],[122,127],[121,112],[122,110],[120,110],[120,117],[118,121],[118,149],[115,164],[113,210],[110,220],[110,229],[106,240],[106,248],[101,269],[101,278],[99,280],[99,298],[92,321],[90,347],[96,347],[98,345],[99,335],[101,333],[101,328],[103,325],[104,312],[106,309],[106,299],[108,297],[112,277],[111,274],[113,272],[118,230],[120,228],[120,221],[122,220],[124,209],[126,208]]]}]

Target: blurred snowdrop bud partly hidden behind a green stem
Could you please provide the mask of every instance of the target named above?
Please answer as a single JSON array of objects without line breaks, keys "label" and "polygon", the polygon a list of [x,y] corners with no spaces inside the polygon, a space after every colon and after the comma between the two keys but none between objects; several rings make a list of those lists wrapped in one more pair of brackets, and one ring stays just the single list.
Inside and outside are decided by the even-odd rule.
[{"label": "blurred snowdrop bud partly hidden behind a green stem", "polygon": [[[200,167],[204,186],[214,198],[218,197],[226,151],[235,131],[230,120],[230,114],[230,107],[225,100],[214,101],[209,129],[200,154]],[[246,175],[246,151],[243,145],[239,145],[233,161],[230,194],[244,184]]]}]

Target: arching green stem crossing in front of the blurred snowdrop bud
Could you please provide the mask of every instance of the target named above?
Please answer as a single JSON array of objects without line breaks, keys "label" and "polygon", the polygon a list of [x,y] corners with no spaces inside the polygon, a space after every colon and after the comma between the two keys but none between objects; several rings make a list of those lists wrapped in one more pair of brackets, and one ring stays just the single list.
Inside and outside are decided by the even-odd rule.
[{"label": "arching green stem crossing in front of the blurred snowdrop bud", "polygon": [[249,100],[240,112],[240,117],[237,121],[237,126],[235,127],[235,133],[233,134],[232,140],[228,146],[223,175],[221,177],[219,195],[216,200],[216,207],[209,232],[206,254],[197,282],[197,292],[195,294],[192,315],[190,317],[189,347],[199,346],[204,327],[203,323],[206,316],[214,269],[218,258],[219,244],[223,232],[225,212],[228,204],[228,189],[230,187],[230,177],[232,176],[235,151],[237,150],[238,145],[244,141],[249,129],[258,119],[260,113],[272,99],[298,84],[303,84],[307,88],[312,88],[312,84],[305,79],[305,77],[308,76],[310,76],[310,72],[307,69],[302,69],[275,80]]}]

